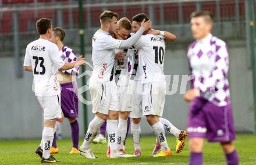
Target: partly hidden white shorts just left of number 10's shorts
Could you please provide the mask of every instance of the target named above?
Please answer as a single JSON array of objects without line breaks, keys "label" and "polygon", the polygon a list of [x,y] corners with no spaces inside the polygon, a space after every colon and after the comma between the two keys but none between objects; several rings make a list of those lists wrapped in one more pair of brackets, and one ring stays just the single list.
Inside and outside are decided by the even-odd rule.
[{"label": "partly hidden white shorts just left of number 10's shorts", "polygon": [[141,109],[142,103],[142,94],[143,94],[143,84],[141,81],[131,80],[130,88],[133,91],[133,95],[131,95],[131,118],[141,118],[143,117],[143,112]]}]

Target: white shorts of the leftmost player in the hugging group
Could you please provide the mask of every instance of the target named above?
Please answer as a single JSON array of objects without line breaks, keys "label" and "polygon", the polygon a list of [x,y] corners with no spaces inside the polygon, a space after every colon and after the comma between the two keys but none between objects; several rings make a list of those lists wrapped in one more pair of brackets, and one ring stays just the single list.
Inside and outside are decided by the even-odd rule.
[{"label": "white shorts of the leftmost player in the hugging group", "polygon": [[90,84],[93,113],[108,115],[109,110],[119,111],[118,93],[115,81]]}]

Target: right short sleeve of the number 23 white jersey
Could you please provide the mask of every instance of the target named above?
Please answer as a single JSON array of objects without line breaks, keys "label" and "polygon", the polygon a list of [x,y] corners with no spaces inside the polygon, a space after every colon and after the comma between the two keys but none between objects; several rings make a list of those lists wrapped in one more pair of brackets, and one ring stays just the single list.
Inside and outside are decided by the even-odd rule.
[{"label": "right short sleeve of the number 23 white jersey", "polygon": [[54,63],[58,69],[60,69],[65,62],[63,62],[61,56],[59,56],[59,49],[58,46],[52,45],[49,49],[49,57],[52,60],[52,63]]}]

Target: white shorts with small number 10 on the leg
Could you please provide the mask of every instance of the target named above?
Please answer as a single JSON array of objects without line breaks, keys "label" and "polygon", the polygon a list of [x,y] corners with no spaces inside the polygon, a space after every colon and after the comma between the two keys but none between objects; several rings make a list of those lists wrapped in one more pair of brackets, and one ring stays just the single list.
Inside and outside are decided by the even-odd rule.
[{"label": "white shorts with small number 10 on the leg", "polygon": [[143,115],[157,115],[162,117],[165,106],[166,82],[143,84],[142,98]]}]

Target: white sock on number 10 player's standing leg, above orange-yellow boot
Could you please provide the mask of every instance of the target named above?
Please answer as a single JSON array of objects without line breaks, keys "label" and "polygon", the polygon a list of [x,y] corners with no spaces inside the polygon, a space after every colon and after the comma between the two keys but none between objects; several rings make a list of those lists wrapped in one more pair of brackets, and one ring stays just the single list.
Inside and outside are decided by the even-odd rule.
[{"label": "white sock on number 10 player's standing leg, above orange-yellow boot", "polygon": [[160,121],[158,123],[155,123],[151,126],[154,134],[156,137],[158,137],[159,144],[161,144],[161,150],[170,150],[166,137],[165,137],[165,129],[163,128],[163,125]]}]

